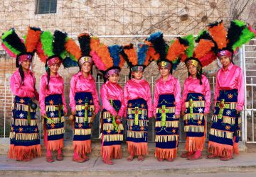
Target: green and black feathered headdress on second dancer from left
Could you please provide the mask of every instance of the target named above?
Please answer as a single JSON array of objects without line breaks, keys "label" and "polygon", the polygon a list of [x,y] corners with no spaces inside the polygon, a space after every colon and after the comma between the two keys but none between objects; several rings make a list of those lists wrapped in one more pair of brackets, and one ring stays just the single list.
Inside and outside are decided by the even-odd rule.
[{"label": "green and black feathered headdress on second dancer from left", "polygon": [[73,42],[68,38],[67,33],[59,30],[55,30],[53,34],[50,31],[43,31],[36,52],[41,62],[46,63],[46,69],[55,63],[63,63],[65,68],[73,67],[77,65],[76,59],[65,50],[65,45],[70,44],[72,45]]}]

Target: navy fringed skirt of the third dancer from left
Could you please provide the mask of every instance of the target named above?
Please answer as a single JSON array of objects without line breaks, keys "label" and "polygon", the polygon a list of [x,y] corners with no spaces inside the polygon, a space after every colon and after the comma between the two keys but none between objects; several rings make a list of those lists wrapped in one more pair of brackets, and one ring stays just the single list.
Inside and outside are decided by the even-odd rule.
[{"label": "navy fringed skirt of the third dancer from left", "polygon": [[74,150],[80,154],[91,152],[91,120],[95,110],[92,93],[75,93]]}]

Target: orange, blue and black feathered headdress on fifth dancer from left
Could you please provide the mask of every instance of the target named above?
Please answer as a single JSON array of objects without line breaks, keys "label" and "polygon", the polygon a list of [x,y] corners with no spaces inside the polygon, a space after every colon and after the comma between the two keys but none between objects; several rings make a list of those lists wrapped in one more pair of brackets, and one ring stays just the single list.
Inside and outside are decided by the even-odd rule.
[{"label": "orange, blue and black feathered headdress on fifth dancer from left", "polygon": [[121,51],[122,57],[124,57],[124,60],[130,68],[130,73],[144,71],[152,61],[152,57],[150,57],[149,53],[149,45],[146,43],[139,43],[137,45],[137,50],[134,45],[130,43],[129,45],[124,45]]}]

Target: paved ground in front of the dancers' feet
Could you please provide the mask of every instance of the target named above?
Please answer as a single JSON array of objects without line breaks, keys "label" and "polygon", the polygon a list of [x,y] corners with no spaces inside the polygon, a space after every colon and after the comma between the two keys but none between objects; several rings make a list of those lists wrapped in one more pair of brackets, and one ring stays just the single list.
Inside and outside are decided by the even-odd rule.
[{"label": "paved ground in front of the dancers' feet", "polygon": [[78,164],[71,157],[53,164],[44,157],[31,162],[19,162],[0,156],[0,176],[256,176],[256,153],[242,153],[231,161],[201,159],[188,161],[178,157],[174,162],[159,162],[154,157],[132,162],[114,160],[114,165],[103,164],[100,157]]}]

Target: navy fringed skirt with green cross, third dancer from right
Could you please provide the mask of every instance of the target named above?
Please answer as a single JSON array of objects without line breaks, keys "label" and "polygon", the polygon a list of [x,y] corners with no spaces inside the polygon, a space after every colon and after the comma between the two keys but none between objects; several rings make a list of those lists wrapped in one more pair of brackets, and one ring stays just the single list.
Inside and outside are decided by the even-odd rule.
[{"label": "navy fringed skirt with green cross, third dancer from right", "polygon": [[174,159],[178,147],[178,119],[175,118],[174,95],[159,96],[156,108],[156,150],[160,159]]}]

